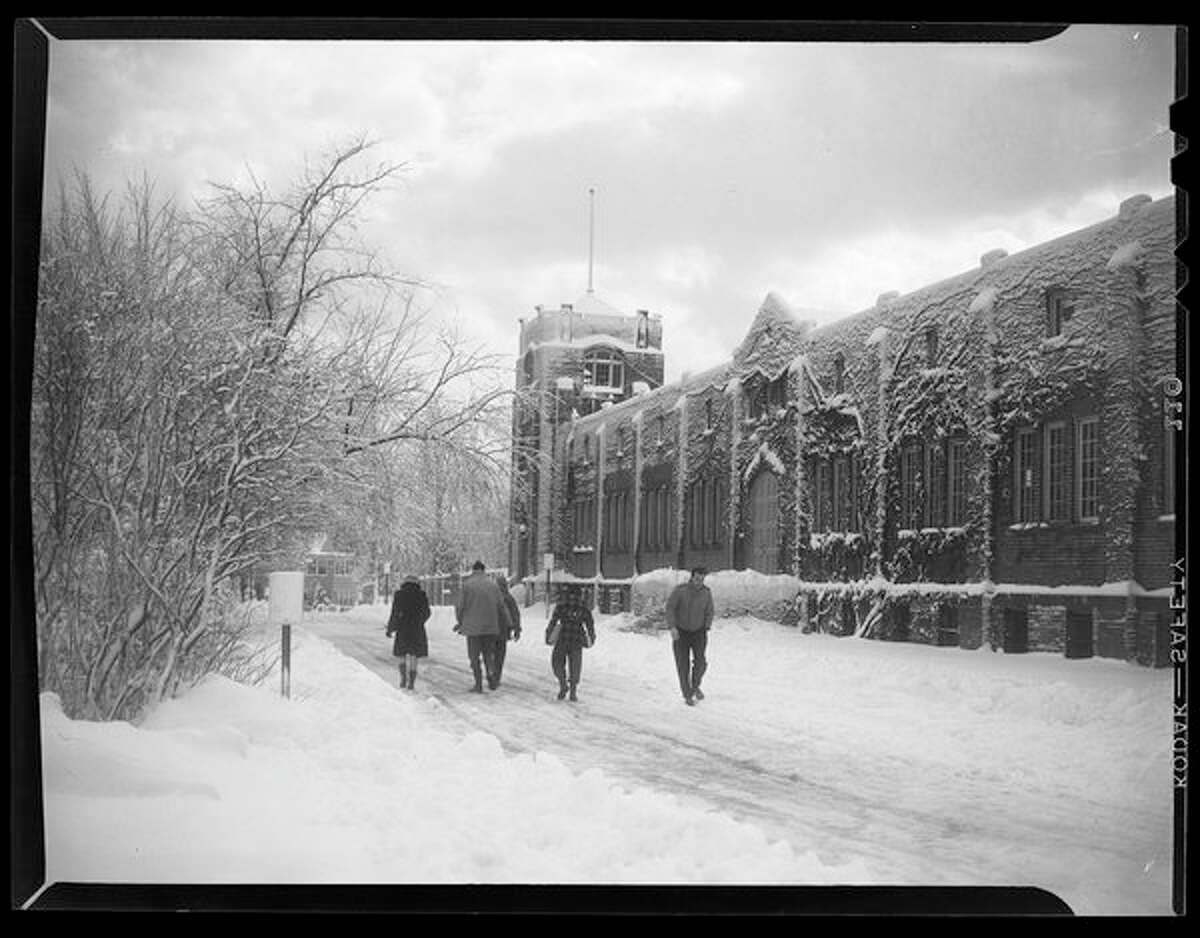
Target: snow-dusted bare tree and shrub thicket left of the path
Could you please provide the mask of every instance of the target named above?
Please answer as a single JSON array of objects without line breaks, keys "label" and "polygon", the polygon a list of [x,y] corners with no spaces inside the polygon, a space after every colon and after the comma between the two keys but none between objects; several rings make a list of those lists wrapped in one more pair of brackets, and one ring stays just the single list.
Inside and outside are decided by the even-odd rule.
[{"label": "snow-dusted bare tree and shrub thicket left of the path", "polygon": [[491,445],[486,356],[418,327],[413,282],[353,240],[397,172],[360,172],[367,149],[282,197],[221,187],[185,215],[79,181],[50,214],[31,495],[41,684],[68,712],[253,672],[235,577],[378,501],[390,445]]}]

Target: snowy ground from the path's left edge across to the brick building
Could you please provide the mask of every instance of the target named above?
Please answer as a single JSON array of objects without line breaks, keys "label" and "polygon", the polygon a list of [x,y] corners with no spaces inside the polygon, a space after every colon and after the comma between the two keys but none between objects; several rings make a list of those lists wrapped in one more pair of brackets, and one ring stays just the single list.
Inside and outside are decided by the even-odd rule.
[{"label": "snowy ground from the path's left edge across to the brick building", "polygon": [[[1030,884],[1076,912],[1170,909],[1165,672],[722,620],[708,697],[688,708],[666,636],[610,619],[572,704],[554,699],[542,607],[524,611],[504,683],[482,696],[467,692],[448,615],[430,623],[416,687],[445,728],[671,792],[827,864],[862,860],[877,883]],[[395,686],[385,619],[377,607],[305,627]],[[1093,698],[1097,712],[1080,706]]]}]

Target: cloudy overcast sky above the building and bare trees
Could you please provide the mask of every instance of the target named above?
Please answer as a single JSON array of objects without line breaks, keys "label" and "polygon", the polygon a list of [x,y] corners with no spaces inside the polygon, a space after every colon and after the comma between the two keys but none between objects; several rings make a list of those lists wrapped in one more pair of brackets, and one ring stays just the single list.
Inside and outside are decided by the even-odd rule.
[{"label": "cloudy overcast sky above the building and bare trees", "polygon": [[353,134],[391,264],[504,355],[576,301],[662,317],[667,379],[768,291],[832,320],[1170,194],[1174,29],[1031,44],[52,41],[47,184],[278,182]]}]

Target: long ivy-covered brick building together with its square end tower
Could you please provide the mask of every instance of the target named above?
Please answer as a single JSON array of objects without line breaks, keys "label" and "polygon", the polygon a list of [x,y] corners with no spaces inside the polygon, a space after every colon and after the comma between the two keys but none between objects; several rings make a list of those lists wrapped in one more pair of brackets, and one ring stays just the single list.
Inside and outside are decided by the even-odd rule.
[{"label": "long ivy-covered brick building together with its square end tower", "polygon": [[671,385],[656,318],[551,360],[540,313],[518,385],[554,405],[516,419],[544,455],[518,575],[553,554],[636,611],[641,575],[754,570],[794,579],[804,629],[1165,663],[1176,228],[1174,198],[1133,197],[820,327],[769,294],[726,363]]}]

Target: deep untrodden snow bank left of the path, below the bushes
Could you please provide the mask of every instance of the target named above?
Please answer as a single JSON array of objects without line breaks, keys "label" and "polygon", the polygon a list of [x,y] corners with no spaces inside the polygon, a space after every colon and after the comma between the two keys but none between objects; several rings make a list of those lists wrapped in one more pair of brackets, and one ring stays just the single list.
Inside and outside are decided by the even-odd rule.
[{"label": "deep untrodden snow bank left of the path, below the bushes", "polygon": [[[210,678],[138,727],[43,695],[47,880],[856,882],[671,794],[428,726],[427,708],[300,630],[292,698]],[[548,741],[550,742],[550,741]],[[552,746],[551,746],[552,747]],[[704,844],[701,852],[698,844]]]}]

